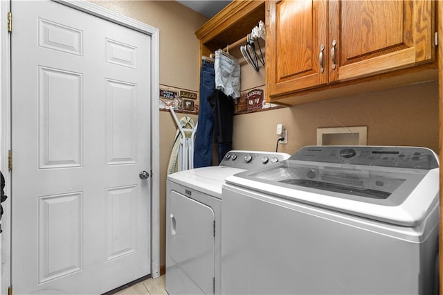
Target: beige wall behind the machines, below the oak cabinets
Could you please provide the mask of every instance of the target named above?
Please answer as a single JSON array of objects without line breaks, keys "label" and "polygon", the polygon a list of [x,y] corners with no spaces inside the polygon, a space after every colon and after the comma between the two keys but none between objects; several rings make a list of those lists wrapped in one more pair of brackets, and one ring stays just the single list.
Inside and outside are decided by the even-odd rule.
[{"label": "beige wall behind the machines, below the oak cabinets", "polygon": [[438,83],[237,115],[233,148],[275,150],[278,123],[288,129],[288,143],[278,151],[289,154],[316,145],[316,128],[343,126],[368,126],[368,145],[424,146],[438,152]]}]

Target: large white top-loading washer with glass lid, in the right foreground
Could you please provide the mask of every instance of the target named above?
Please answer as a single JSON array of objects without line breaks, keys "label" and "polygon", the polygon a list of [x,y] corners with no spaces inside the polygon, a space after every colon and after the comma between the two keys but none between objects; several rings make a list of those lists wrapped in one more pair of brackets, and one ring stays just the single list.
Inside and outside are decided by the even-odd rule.
[{"label": "large white top-loading washer with glass lid, in the right foreground", "polygon": [[227,177],[222,294],[437,294],[439,163],[420,147],[304,147]]}]

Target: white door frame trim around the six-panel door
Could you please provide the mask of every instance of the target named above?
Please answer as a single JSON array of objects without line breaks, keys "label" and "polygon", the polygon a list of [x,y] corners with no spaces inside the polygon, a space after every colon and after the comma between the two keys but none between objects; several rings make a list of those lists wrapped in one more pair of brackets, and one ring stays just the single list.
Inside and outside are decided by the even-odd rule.
[{"label": "white door frame trim around the six-panel door", "polygon": [[[158,28],[136,21],[130,17],[107,10],[86,0],[52,0],[125,26],[151,37],[151,276],[160,276],[160,123],[159,123],[159,73],[160,73],[160,31]],[[8,152],[11,149],[11,39],[8,33],[8,12],[10,1],[0,0],[0,170],[6,179],[4,214],[1,218],[3,238],[0,239],[0,294],[7,294],[11,285],[11,177],[8,171]],[[12,13],[12,32],[13,29]],[[154,177],[152,177],[154,175]]]}]

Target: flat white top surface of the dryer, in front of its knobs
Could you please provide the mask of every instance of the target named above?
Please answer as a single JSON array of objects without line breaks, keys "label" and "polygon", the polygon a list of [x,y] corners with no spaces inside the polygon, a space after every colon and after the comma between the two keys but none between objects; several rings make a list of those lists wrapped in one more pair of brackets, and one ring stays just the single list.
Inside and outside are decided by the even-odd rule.
[{"label": "flat white top surface of the dryer, in front of its knobs", "polygon": [[181,186],[186,186],[220,199],[221,186],[224,184],[224,179],[242,171],[244,169],[210,166],[175,172],[168,175],[167,179]]}]

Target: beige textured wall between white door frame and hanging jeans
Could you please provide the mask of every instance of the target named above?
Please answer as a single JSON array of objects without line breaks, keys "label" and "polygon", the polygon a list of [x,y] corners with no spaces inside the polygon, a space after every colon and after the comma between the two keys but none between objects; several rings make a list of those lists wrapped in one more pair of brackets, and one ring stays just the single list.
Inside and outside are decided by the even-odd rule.
[{"label": "beige textured wall between white door frame and hanging jeans", "polygon": [[[176,1],[91,1],[160,30],[160,84],[199,91],[199,40],[195,31],[208,19]],[[159,99],[155,97],[153,99]],[[181,118],[183,114],[178,114]],[[197,116],[190,116],[197,123]],[[165,265],[166,171],[176,126],[160,111],[160,265]],[[164,271],[164,269],[162,269]]]}]

